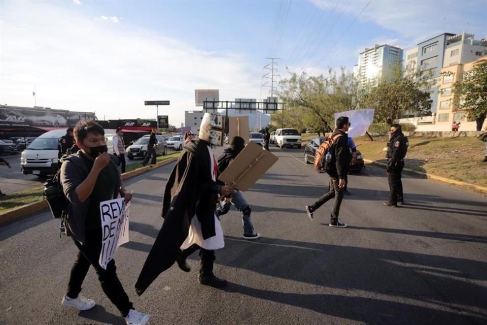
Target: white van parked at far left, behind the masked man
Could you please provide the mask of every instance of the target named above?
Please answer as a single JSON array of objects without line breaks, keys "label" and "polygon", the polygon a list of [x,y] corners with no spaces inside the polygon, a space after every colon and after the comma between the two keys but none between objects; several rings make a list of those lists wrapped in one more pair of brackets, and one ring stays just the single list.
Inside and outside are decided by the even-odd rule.
[{"label": "white van parked at far left, behind the masked man", "polygon": [[[66,134],[65,129],[46,132],[37,137],[32,143],[22,151],[20,156],[20,170],[23,174],[33,174],[37,176],[54,175],[57,172],[57,143],[59,138]],[[106,129],[105,137],[109,153],[113,149],[113,137],[115,130]]]}]

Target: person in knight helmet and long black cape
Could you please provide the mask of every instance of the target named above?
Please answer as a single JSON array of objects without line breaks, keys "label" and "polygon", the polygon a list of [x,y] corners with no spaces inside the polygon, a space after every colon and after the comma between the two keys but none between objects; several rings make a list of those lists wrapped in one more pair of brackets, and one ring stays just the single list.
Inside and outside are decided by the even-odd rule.
[{"label": "person in knight helmet and long black cape", "polygon": [[176,262],[181,250],[195,245],[201,247],[199,283],[214,287],[227,285],[226,280],[213,273],[214,250],[224,246],[223,230],[215,213],[218,196],[228,196],[234,190],[216,182],[217,159],[211,145],[221,145],[222,127],[221,115],[205,113],[198,139],[183,148],[166,183],[162,204],[164,223],[135,283],[138,295]]}]

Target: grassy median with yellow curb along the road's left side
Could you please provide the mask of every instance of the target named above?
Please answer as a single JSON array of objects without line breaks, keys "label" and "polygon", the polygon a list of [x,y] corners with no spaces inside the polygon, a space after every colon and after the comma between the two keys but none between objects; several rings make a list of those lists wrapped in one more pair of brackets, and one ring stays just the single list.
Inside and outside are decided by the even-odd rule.
[{"label": "grassy median with yellow curb along the road's left side", "polygon": [[[169,157],[162,157],[162,160],[159,161],[158,163],[154,164],[154,165],[135,168],[134,170],[123,173],[122,179],[127,180],[130,178],[139,176],[141,174],[150,172],[156,168],[160,168],[162,166],[171,164],[178,159],[178,156],[179,156],[179,153],[174,153],[174,154],[170,155]],[[40,194],[40,193],[42,193],[42,191],[43,191],[43,187],[36,187],[33,189],[29,189],[27,191],[22,191],[20,193],[17,193],[18,194],[17,196],[16,196],[16,193],[14,193],[14,194],[12,194],[12,196],[14,196],[14,197],[15,196],[16,197],[25,197],[25,196],[29,195],[31,197],[33,196],[33,198],[35,199],[35,198],[38,198],[40,196],[42,197],[42,194]],[[7,200],[5,200],[5,201],[0,201],[0,204],[3,204],[4,202],[6,204],[9,203],[9,202],[7,202]],[[18,203],[17,203],[17,205],[18,205]],[[8,209],[7,211],[0,213],[0,224],[8,222],[8,221],[15,220],[15,219],[18,219],[21,217],[25,217],[29,214],[39,212],[39,211],[47,209],[47,208],[48,208],[47,201],[37,200],[37,201],[31,202],[31,203],[28,203],[25,205],[21,205],[21,206],[17,206],[15,208],[12,208],[12,209]]]}]

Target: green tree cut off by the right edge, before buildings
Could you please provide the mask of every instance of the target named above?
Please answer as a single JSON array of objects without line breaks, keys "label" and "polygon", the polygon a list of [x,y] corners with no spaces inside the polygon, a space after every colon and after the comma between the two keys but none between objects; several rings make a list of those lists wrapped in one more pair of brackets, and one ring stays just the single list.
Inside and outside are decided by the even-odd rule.
[{"label": "green tree cut off by the right edge, before buildings", "polygon": [[[453,84],[454,103],[475,119],[487,115],[487,61],[475,64]],[[463,101],[462,101],[463,100]]]}]

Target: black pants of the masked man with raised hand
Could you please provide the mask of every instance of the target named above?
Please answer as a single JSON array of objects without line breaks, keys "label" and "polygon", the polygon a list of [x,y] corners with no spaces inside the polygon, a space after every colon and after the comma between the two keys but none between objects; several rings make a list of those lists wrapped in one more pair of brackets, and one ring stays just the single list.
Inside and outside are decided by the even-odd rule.
[{"label": "black pants of the masked man with raised hand", "polygon": [[88,273],[90,265],[96,271],[101,288],[110,301],[118,308],[123,317],[128,315],[132,308],[132,303],[128,299],[122,283],[117,277],[115,260],[112,259],[107,265],[107,270],[100,267],[98,259],[101,252],[101,228],[96,230],[86,230],[86,243],[81,245],[75,240],[75,244],[80,250],[67,286],[67,296],[76,299],[81,292],[81,285]]}]

